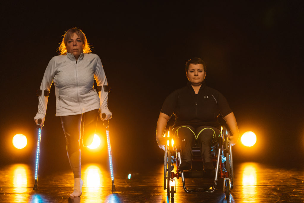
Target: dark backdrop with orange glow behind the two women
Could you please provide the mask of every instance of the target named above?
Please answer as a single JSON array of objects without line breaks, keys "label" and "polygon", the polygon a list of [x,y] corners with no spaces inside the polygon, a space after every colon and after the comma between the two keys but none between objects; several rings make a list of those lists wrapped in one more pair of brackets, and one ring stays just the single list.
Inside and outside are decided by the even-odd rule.
[{"label": "dark backdrop with orange glow behind the two women", "polygon": [[[193,57],[206,61],[206,83],[226,97],[240,134],[257,134],[254,147],[233,147],[235,160],[302,164],[302,1],[1,4],[1,163],[33,162],[35,93],[62,35],[76,26],[101,58],[111,86],[116,167],[163,161],[155,141],[157,118],[165,97],[185,86],[185,62]],[[101,121],[97,131],[104,132]],[[13,149],[16,133],[28,137],[26,149]],[[82,156],[83,162],[107,159],[104,150],[84,150]],[[41,157],[42,167],[68,168],[54,86]]]}]

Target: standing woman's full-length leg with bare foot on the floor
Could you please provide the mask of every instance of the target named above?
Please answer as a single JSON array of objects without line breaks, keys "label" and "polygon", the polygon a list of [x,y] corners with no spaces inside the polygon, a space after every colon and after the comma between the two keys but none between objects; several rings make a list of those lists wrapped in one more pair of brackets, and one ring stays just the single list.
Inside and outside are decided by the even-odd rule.
[{"label": "standing woman's full-length leg with bare foot on the floor", "polygon": [[74,174],[74,192],[72,197],[78,197],[82,194],[81,187],[81,151],[80,151],[80,125],[82,114],[61,116],[61,124],[67,141],[67,157]]}]

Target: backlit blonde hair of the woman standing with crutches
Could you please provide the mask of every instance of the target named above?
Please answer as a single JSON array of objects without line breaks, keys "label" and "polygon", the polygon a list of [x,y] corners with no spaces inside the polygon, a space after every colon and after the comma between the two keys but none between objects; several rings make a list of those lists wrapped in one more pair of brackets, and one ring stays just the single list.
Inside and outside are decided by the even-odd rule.
[{"label": "backlit blonde hair of the woman standing with crutches", "polygon": [[76,33],[82,40],[82,42],[84,44],[83,53],[84,54],[91,53],[92,47],[90,44],[88,44],[88,40],[85,37],[85,33],[83,33],[82,30],[79,29],[78,27],[73,27],[64,33],[60,46],[57,48],[57,51],[59,52],[59,54],[60,55],[67,54],[67,48],[66,48],[67,40],[72,37],[73,33]]}]

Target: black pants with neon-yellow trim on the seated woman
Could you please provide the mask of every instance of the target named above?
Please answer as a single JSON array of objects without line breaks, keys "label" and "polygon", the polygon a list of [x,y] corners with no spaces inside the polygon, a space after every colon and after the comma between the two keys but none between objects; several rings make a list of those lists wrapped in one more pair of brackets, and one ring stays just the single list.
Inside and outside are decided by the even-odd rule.
[{"label": "black pants with neon-yellow trim on the seated woman", "polygon": [[191,148],[195,140],[200,147],[203,163],[212,162],[212,139],[219,136],[219,129],[206,125],[196,129],[190,125],[182,125],[175,127],[173,132],[174,136],[178,137],[181,145],[181,162],[192,162],[193,152]]}]

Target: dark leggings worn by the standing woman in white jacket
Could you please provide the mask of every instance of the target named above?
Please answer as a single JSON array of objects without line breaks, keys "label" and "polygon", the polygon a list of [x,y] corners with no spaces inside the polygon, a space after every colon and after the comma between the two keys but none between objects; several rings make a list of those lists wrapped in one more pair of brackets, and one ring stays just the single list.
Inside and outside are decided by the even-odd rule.
[{"label": "dark leggings worn by the standing woman in white jacket", "polygon": [[98,113],[99,109],[95,109],[83,114],[60,117],[67,141],[67,157],[69,158],[74,178],[81,177],[81,151],[79,144],[81,131],[83,132],[83,145],[90,145],[95,135]]}]

